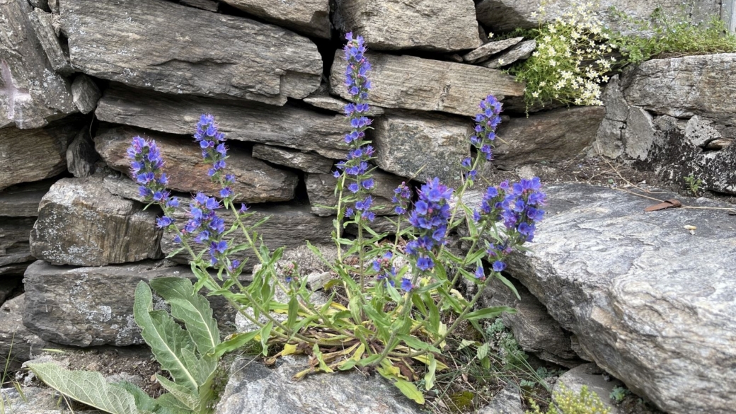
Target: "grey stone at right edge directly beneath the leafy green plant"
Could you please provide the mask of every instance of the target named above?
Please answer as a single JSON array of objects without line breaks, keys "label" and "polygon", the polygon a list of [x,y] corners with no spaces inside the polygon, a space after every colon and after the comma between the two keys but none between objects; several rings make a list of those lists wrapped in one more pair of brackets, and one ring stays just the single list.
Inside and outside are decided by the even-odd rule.
[{"label": "grey stone at right edge directly beneath the leafy green plant", "polygon": [[623,75],[623,97],[654,113],[734,124],[735,65],[734,53],[648,60]]}]

